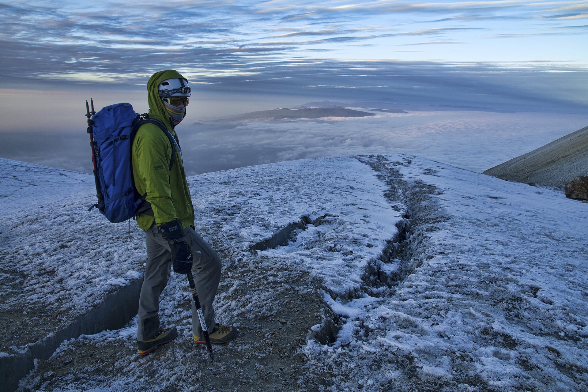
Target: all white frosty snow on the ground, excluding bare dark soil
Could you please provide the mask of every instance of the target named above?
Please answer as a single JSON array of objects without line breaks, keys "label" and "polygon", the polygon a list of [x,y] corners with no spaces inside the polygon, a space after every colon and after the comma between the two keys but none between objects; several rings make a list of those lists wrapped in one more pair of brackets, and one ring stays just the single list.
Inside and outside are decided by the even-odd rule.
[{"label": "all white frosty snow on the ground, excluding bare dark soil", "polygon": [[[133,234],[129,243],[128,227],[85,212],[93,201],[91,176],[0,163],[10,169],[2,174],[2,265],[19,260],[12,268],[31,273],[28,282],[36,283],[26,290],[34,301],[49,299],[48,309],[85,308],[101,290],[139,276],[142,237]],[[560,190],[405,155],[307,159],[189,182],[201,217],[197,229],[232,256],[225,270],[258,253],[310,270],[322,282],[324,299],[342,323],[335,341],[310,339],[303,347],[306,377],[331,368],[333,391],[586,390],[588,210]],[[285,246],[255,250],[303,217],[315,225],[295,230]],[[405,219],[406,243],[391,246]],[[389,258],[382,256],[386,250]],[[126,274],[129,255],[135,261]],[[184,289],[183,279],[172,276],[161,317],[188,334]],[[71,296],[69,302],[63,296]],[[243,311],[229,293],[221,293],[216,306],[220,322]],[[136,356],[134,323],[80,340],[98,346],[124,340],[129,356]],[[88,380],[85,387],[141,387],[144,365],[131,358],[115,364],[123,376]],[[174,368],[158,371],[177,380]]]}]

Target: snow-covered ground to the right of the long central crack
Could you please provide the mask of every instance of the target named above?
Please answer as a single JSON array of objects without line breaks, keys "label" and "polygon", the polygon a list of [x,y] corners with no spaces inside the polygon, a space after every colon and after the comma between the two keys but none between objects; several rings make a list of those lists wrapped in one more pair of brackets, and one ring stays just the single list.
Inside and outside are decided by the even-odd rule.
[{"label": "snow-covered ground to the right of the long central crack", "polygon": [[382,390],[411,373],[458,390],[586,390],[586,204],[417,157],[362,160],[407,192],[435,189],[412,206],[418,245],[397,287],[333,306],[346,320],[339,339],[309,341],[315,366],[356,374],[333,390],[355,390],[349,378]]}]

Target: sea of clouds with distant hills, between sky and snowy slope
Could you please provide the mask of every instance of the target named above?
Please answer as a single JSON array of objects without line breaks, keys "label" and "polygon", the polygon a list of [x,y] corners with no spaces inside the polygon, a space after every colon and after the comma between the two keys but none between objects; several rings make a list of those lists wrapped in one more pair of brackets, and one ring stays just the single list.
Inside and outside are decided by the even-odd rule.
[{"label": "sea of clouds with distant hills, between sky and snowy slope", "polygon": [[[364,109],[365,110],[365,109]],[[321,156],[409,153],[483,172],[588,125],[588,115],[411,111],[362,118],[209,121],[177,127],[188,175]],[[2,133],[0,157],[92,172],[89,136]]]}]

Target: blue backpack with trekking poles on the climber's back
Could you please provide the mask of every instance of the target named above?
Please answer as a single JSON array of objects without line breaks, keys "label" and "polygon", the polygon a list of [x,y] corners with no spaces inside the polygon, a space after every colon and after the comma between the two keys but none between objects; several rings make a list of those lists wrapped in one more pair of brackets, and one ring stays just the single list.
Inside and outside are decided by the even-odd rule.
[{"label": "blue backpack with trekking poles on the climber's back", "polygon": [[139,195],[133,182],[133,139],[141,125],[153,123],[159,126],[172,145],[172,159],[169,163],[171,170],[175,160],[173,136],[158,120],[150,119],[146,114],[135,113],[130,103],[105,106],[96,113],[93,100],[90,102],[92,112],[86,100],[86,117],[98,203],[89,210],[98,208],[112,223],[124,222],[138,213],[148,213],[151,205],[145,200],[147,195]]}]

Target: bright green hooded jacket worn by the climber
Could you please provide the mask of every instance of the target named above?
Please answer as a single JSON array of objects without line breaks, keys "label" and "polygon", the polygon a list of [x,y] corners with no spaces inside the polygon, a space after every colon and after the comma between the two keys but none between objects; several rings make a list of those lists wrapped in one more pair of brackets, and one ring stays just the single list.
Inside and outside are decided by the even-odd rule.
[{"label": "bright green hooded jacket worn by the climber", "polygon": [[[158,86],[166,79],[184,78],[177,71],[156,72],[147,83],[149,118],[159,120],[178,141],[172,120],[159,98]],[[179,145],[179,142],[178,142]],[[175,219],[183,228],[194,226],[194,208],[183,169],[182,154],[176,149],[172,169],[172,146],[168,137],[155,124],[143,124],[133,140],[132,163],[135,187],[140,195],[147,194],[153,215],[136,216],[139,227],[148,230],[155,222],[158,226]]]}]

